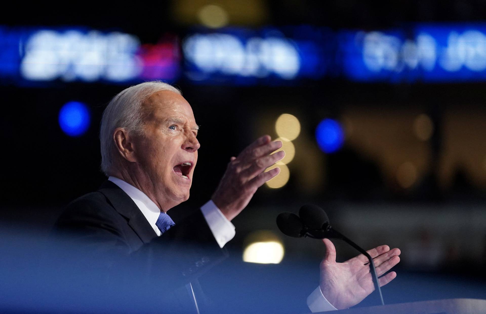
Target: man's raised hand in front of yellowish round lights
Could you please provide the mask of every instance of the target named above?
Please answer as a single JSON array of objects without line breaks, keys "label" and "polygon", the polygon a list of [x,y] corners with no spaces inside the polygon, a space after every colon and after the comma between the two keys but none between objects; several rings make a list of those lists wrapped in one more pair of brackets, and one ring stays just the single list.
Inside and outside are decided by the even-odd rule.
[{"label": "man's raised hand in front of yellowish round lights", "polygon": [[285,156],[283,151],[270,155],[280,147],[281,141],[271,142],[270,137],[265,135],[246,147],[238,157],[231,157],[225,175],[211,197],[228,220],[235,218],[248,205],[263,183],[280,172],[279,168],[264,172]]}]

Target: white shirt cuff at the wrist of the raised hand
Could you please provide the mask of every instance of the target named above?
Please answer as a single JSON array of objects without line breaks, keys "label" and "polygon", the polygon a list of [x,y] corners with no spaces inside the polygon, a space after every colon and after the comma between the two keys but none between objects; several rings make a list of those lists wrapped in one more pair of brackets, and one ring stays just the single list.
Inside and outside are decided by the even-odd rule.
[{"label": "white shirt cuff at the wrist of the raised hand", "polygon": [[211,229],[214,239],[216,239],[219,247],[223,248],[235,236],[235,226],[226,219],[225,215],[223,215],[221,210],[211,200],[201,207],[201,211],[208,223],[209,229]]}]

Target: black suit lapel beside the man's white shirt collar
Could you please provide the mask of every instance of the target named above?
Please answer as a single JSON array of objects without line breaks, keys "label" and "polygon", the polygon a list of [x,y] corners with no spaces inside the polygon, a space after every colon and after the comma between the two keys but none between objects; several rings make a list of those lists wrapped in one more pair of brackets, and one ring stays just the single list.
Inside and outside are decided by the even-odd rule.
[{"label": "black suit lapel beside the man's white shirt collar", "polygon": [[121,188],[111,181],[104,181],[98,192],[110,201],[113,208],[128,220],[128,225],[135,231],[143,243],[149,243],[157,237],[152,226],[134,201]]}]

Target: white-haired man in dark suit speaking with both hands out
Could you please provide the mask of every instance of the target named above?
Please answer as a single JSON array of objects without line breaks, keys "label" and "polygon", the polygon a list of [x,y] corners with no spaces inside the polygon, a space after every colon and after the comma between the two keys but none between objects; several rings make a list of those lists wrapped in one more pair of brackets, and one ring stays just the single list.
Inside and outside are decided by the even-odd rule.
[{"label": "white-haired man in dark suit speaking with both hands out", "polygon": [[[284,157],[283,151],[272,154],[281,148],[280,141],[269,136],[256,140],[231,157],[208,203],[174,226],[167,211],[189,198],[200,147],[197,133],[191,105],[175,87],[146,82],[121,91],[101,123],[102,169],[108,180],[97,192],[71,202],[56,224],[58,231],[74,232],[101,251],[137,256],[151,265],[151,274],[164,279],[165,291],[187,294],[189,301],[176,308],[186,313],[199,311],[197,277],[224,258],[223,246],[235,235],[230,221],[279,173],[278,168],[265,169]],[[337,263],[334,245],[327,239],[324,244],[320,285],[307,300],[312,312],[348,308],[374,289],[364,256]],[[381,276],[399,262],[400,251],[382,245],[369,254]],[[380,284],[395,276],[382,276]],[[171,300],[184,299],[174,296]]]}]

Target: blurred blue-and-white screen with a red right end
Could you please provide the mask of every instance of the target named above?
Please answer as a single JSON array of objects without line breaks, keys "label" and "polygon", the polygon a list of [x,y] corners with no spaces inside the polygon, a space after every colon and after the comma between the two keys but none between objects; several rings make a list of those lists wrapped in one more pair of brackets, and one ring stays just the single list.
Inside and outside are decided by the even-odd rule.
[{"label": "blurred blue-and-white screen with a red right end", "polygon": [[17,82],[174,80],[174,38],[142,44],[135,35],[76,29],[0,28],[0,77]]}]

